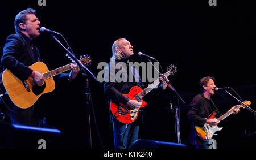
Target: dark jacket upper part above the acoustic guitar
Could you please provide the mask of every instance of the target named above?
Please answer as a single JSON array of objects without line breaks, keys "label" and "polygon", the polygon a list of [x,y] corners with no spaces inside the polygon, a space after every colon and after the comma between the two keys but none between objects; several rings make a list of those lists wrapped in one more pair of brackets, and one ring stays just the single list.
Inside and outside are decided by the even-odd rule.
[{"label": "dark jacket upper part above the acoustic guitar", "polygon": [[23,33],[11,34],[6,39],[1,58],[1,71],[9,69],[20,80],[26,80],[31,75],[31,66],[35,62],[43,61],[36,48],[38,58],[34,58],[33,50],[25,40]]}]

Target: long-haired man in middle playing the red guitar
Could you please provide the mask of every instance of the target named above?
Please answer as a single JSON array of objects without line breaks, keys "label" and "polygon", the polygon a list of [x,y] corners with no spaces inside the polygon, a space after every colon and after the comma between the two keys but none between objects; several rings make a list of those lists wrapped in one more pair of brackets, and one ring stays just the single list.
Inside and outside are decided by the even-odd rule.
[{"label": "long-haired man in middle playing the red guitar", "polygon": [[[130,89],[134,86],[138,86],[143,88],[144,85],[139,77],[137,70],[129,65],[129,59],[134,55],[133,46],[127,41],[125,38],[118,39],[112,45],[113,56],[108,66],[105,67],[104,73],[104,93],[108,97],[109,100],[109,108],[110,102],[119,103],[121,102],[123,105],[127,105],[130,109],[138,109],[142,102],[138,102],[137,100],[130,100],[129,98],[123,96],[123,94],[128,94]],[[118,63],[123,62],[123,63]],[[119,69],[111,68],[115,67],[114,64],[120,64]],[[125,66],[121,66],[125,65]],[[127,70],[135,71],[133,75],[127,75],[129,71],[123,71],[122,76],[127,77],[127,81],[121,81],[117,79],[112,79],[111,74],[115,75],[115,73],[120,72],[122,68],[127,68]],[[126,75],[125,75],[126,74]],[[138,82],[133,80],[129,81],[129,76],[134,76],[135,79],[139,80]],[[115,77],[115,76],[114,76]],[[166,77],[167,78],[167,77]],[[158,90],[164,90],[167,87],[167,83],[160,77],[159,79],[162,84],[159,85],[158,88],[155,89],[156,92]],[[154,89],[153,89],[154,90]],[[140,116],[141,113],[139,113]],[[111,123],[113,124],[113,132],[114,132],[114,148],[115,149],[125,149],[129,148],[135,140],[138,139],[139,133],[139,124],[141,123],[141,118],[137,118],[134,122],[125,124],[119,122],[114,118],[112,112],[110,111]]]}]

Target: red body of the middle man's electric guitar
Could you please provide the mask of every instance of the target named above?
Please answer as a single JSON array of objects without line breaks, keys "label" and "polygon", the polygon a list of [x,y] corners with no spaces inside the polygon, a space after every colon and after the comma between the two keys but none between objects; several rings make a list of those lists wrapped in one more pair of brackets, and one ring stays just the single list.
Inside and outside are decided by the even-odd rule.
[{"label": "red body of the middle man's electric guitar", "polygon": [[[123,94],[123,96],[129,98],[130,100],[137,100],[137,98],[135,98],[135,95],[139,94],[142,92],[142,89],[139,88],[138,86],[134,86],[130,89],[129,94]],[[138,101],[138,100],[137,100]],[[141,107],[147,106],[147,102],[142,101],[142,105]],[[141,107],[139,107],[139,109],[141,109]],[[126,105],[123,105],[122,103],[119,103],[119,105],[110,102],[110,110],[114,116],[115,119],[119,120],[119,122],[122,123],[132,123],[134,122],[135,119],[138,118],[138,114],[139,114],[139,109],[128,109]]]}]

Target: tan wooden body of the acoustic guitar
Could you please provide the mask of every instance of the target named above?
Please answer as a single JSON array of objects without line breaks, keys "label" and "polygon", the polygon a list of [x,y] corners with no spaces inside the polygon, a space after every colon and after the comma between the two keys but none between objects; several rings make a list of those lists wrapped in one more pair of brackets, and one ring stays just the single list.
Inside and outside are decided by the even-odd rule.
[{"label": "tan wooden body of the acoustic guitar", "polygon": [[[36,62],[29,68],[42,74],[49,72],[46,64],[43,62]],[[19,80],[7,69],[3,71],[2,82],[7,92],[7,95],[2,97],[3,102],[13,111],[31,107],[42,94],[52,92],[55,89],[55,82],[52,77],[46,79],[42,86],[35,85],[34,80],[29,77],[24,81],[28,87],[26,89],[23,81]]]}]

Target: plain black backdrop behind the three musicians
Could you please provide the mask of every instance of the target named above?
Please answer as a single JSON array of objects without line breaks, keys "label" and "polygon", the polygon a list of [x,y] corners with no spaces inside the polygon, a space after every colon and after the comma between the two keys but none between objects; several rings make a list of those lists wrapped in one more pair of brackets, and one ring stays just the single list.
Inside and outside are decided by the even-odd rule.
[{"label": "plain black backdrop behind the three musicians", "polygon": [[[14,19],[28,7],[36,10],[41,24],[57,31],[67,39],[76,57],[88,54],[93,62],[89,68],[97,76],[100,62],[108,63],[112,44],[126,38],[134,46],[134,53],[142,51],[158,59],[164,72],[176,64],[178,72],[169,77],[172,85],[185,100],[180,105],[181,142],[187,144],[190,123],[188,104],[200,92],[199,80],[214,76],[217,87],[232,87],[240,96],[252,102],[255,109],[255,1],[219,1],[209,6],[208,1],[49,1],[39,6],[38,1],[1,2],[0,49],[6,37],[14,34]],[[57,38],[63,42],[61,37]],[[48,34],[37,38],[37,45],[48,67],[53,69],[71,63],[65,50]],[[1,53],[2,54],[2,53]],[[138,62],[146,59],[134,57]],[[146,61],[145,61],[146,62]],[[89,78],[95,118],[92,115],[93,148],[113,148],[113,131],[103,83]],[[57,85],[46,97],[47,121],[60,129],[65,137],[61,148],[88,148],[88,120],[85,105],[85,79],[80,75],[69,87]],[[225,93],[224,93],[225,94]],[[160,97],[148,96],[144,109],[144,124],[139,138],[177,142],[174,114],[168,108],[177,98],[167,88]],[[236,105],[230,96],[213,96],[221,113]],[[94,123],[96,121],[96,124]],[[255,131],[252,114],[241,109],[219,126],[223,131],[216,137],[218,148],[255,147],[254,137],[242,133]],[[251,141],[253,140],[253,141]]]}]

